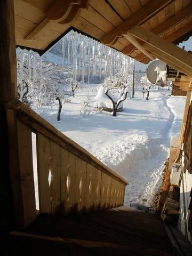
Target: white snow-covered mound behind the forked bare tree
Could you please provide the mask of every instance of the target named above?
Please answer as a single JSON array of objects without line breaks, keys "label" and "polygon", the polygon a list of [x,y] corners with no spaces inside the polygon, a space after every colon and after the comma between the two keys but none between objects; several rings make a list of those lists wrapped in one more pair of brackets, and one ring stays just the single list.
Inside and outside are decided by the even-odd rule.
[{"label": "white snow-covered mound behind the forked bare tree", "polygon": [[[95,108],[106,108],[106,109],[113,109],[113,103],[112,101],[107,97],[107,95],[105,94],[106,92],[106,87],[104,86],[100,86],[97,96],[94,98],[95,103],[94,103],[94,107]],[[114,98],[114,96],[108,92],[108,94],[110,95],[111,98],[114,99],[114,101],[117,101],[117,99]],[[123,108],[123,103],[121,102],[118,106],[118,108]]]}]

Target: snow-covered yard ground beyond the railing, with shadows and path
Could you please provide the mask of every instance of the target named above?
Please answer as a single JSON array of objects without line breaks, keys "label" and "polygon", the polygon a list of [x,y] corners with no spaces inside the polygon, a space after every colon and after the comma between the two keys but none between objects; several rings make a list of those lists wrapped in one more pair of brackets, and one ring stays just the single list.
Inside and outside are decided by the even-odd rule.
[{"label": "snow-covered yard ground beyond the railing, with shadows and path", "polygon": [[[36,111],[58,130],[88,150],[101,162],[129,180],[125,205],[153,206],[161,187],[170,136],[179,135],[186,97],[169,97],[170,91],[150,92],[149,100],[136,91],[134,99],[123,102],[117,117],[94,110],[98,85],[79,89],[70,103],[63,105],[60,122],[58,106]],[[89,116],[80,116],[81,103],[90,94]]]}]

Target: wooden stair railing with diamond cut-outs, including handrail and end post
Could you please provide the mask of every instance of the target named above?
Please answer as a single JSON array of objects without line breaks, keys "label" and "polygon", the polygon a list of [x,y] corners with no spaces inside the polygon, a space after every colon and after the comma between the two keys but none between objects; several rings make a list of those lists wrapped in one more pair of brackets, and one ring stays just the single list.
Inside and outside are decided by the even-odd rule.
[{"label": "wooden stair railing with diamond cut-outs, including handrail and end post", "polygon": [[11,100],[6,112],[18,227],[25,228],[36,218],[32,132],[36,133],[40,213],[65,215],[123,205],[128,184],[124,178],[22,102]]}]

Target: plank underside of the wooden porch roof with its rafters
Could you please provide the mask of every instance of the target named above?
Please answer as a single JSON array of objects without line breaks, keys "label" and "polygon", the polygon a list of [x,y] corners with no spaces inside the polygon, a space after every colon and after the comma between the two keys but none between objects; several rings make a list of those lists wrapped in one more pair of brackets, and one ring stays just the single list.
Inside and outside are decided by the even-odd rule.
[{"label": "plank underside of the wooden porch roof with its rafters", "polygon": [[46,51],[76,29],[142,63],[158,56],[135,26],[175,44],[192,35],[192,0],[14,0],[14,17],[18,46]]}]

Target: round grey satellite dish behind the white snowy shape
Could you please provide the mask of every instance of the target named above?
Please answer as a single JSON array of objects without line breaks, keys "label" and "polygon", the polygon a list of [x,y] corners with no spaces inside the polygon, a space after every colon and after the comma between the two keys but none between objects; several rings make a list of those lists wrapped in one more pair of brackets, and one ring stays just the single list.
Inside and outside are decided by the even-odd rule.
[{"label": "round grey satellite dish behind the white snowy shape", "polygon": [[155,84],[157,79],[157,72],[154,71],[157,67],[159,67],[162,71],[166,71],[166,63],[161,60],[154,60],[150,63],[150,65],[147,68],[147,79],[152,84]]}]

